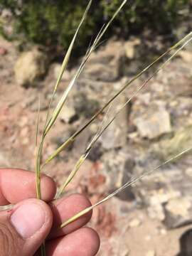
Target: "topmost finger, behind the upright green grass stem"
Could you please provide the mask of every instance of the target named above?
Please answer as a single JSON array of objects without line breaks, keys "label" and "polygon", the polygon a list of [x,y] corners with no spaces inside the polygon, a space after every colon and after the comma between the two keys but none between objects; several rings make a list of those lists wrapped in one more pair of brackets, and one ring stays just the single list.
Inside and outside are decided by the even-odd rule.
[{"label": "topmost finger, behind the upright green grass stem", "polygon": [[[53,179],[42,175],[42,200],[53,200],[55,191]],[[28,198],[36,198],[36,174],[21,169],[0,169],[0,206],[18,203]]]}]

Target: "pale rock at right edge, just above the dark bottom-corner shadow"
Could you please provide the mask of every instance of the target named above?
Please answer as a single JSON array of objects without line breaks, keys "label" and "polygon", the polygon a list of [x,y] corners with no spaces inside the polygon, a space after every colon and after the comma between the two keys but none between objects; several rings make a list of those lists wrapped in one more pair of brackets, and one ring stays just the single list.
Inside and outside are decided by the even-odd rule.
[{"label": "pale rock at right edge, just above the dark bottom-corner shadow", "polygon": [[165,205],[165,224],[168,228],[178,228],[192,223],[191,198],[173,198]]}]

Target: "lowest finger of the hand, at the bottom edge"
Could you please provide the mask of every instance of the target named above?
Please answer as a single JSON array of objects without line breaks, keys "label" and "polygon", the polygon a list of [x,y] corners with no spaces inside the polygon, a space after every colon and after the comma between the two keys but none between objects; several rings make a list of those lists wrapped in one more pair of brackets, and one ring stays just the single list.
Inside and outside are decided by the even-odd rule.
[{"label": "lowest finger of the hand, at the bottom edge", "polygon": [[100,248],[100,238],[92,228],[80,228],[64,238],[47,244],[48,256],[94,256]]}]

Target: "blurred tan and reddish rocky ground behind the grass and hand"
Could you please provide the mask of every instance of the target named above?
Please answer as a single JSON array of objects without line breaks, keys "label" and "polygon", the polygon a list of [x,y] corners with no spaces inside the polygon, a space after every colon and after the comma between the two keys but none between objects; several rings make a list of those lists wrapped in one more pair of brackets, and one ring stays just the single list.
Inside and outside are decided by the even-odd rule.
[{"label": "blurred tan and reddish rocky ground behind the grass and hand", "polygon": [[[129,41],[112,38],[92,54],[70,93],[67,105],[46,139],[43,160],[92,117],[145,65],[169,47],[149,31]],[[182,50],[127,105],[92,149],[67,193],[85,193],[101,200],[130,178],[166,161],[192,143],[192,47]],[[41,48],[23,53],[18,44],[0,38],[0,167],[34,170],[38,97],[40,132],[60,70]],[[53,105],[73,78],[70,66]],[[102,118],[118,107],[152,73],[119,95],[109,112],[87,128],[68,150],[45,168],[60,185],[97,133]],[[101,235],[99,255],[192,255],[192,158],[188,154],[126,188],[94,210],[92,225]]]}]

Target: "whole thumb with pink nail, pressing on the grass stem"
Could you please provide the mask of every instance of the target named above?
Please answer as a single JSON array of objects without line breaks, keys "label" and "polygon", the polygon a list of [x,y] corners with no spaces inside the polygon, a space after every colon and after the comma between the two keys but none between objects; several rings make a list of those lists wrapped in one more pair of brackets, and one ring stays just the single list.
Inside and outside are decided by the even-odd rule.
[{"label": "whole thumb with pink nail, pressing on the grass stem", "polygon": [[0,255],[32,256],[50,232],[53,215],[37,199],[22,201],[0,212]]}]

